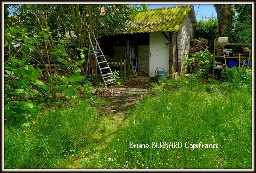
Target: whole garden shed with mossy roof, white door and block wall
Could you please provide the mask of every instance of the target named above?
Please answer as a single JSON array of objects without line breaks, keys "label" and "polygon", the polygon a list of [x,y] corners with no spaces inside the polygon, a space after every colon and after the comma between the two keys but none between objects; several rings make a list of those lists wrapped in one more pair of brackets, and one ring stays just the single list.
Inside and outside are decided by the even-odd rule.
[{"label": "whole garden shed with mossy roof, white door and block wall", "polygon": [[158,67],[180,74],[186,71],[184,59],[189,57],[195,27],[193,5],[150,9],[132,16],[125,27],[103,31],[100,46],[114,66],[120,59],[121,64],[130,63],[126,57],[131,56],[137,75],[154,77]]}]

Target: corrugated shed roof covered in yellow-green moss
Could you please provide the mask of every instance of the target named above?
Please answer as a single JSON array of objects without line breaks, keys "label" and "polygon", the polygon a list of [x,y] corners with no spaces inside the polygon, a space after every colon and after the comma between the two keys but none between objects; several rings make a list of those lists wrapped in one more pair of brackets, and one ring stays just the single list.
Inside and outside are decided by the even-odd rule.
[{"label": "corrugated shed roof covered in yellow-green moss", "polygon": [[[190,12],[191,9],[193,12]],[[192,5],[156,8],[146,12],[139,12],[126,22],[125,28],[117,28],[109,35],[178,32],[188,13],[192,14],[192,22],[195,23],[195,12]]]}]

